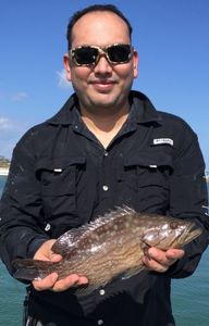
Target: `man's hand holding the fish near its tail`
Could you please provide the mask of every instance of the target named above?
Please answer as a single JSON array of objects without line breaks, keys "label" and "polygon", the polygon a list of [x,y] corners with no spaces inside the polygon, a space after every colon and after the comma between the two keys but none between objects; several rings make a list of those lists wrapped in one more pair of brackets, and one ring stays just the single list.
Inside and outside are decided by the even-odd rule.
[{"label": "man's hand holding the fish near its tail", "polygon": [[[62,260],[60,254],[52,252],[51,247],[56,240],[48,240],[36,251],[34,259],[42,261],[51,261],[58,263]],[[58,280],[58,274],[52,273],[40,280],[33,280],[33,286],[37,291],[52,290],[54,292],[64,291],[75,285],[85,285],[88,280],[85,276],[76,274],[69,275],[67,277]]]}]

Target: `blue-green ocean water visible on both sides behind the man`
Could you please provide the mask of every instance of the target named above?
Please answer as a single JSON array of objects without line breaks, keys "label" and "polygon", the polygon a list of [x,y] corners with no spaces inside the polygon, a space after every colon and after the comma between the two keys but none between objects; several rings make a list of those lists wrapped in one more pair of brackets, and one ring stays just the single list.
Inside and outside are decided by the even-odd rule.
[{"label": "blue-green ocean water visible on both sides behind the man", "polygon": [[[5,177],[0,176],[0,196],[4,183]],[[22,325],[24,292],[24,285],[14,280],[0,262],[1,326]],[[172,281],[172,306],[176,326],[209,326],[209,249],[193,276]]]}]

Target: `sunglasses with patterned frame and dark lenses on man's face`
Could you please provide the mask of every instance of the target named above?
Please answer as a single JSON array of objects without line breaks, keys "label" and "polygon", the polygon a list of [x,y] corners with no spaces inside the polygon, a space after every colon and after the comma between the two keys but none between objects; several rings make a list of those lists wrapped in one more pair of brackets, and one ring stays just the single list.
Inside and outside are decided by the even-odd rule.
[{"label": "sunglasses with patterned frame and dark lenses on man's face", "polygon": [[131,45],[114,43],[103,48],[96,46],[81,46],[70,50],[70,58],[75,65],[95,65],[103,54],[109,63],[126,63],[133,57],[133,47]]}]

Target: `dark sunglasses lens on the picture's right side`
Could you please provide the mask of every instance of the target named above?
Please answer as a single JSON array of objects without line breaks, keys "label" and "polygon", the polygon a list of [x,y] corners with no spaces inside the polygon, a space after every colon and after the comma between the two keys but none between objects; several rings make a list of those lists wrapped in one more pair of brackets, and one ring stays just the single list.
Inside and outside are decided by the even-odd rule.
[{"label": "dark sunglasses lens on the picture's right side", "polygon": [[130,59],[131,46],[118,45],[107,49],[108,57],[112,62],[126,62]]}]

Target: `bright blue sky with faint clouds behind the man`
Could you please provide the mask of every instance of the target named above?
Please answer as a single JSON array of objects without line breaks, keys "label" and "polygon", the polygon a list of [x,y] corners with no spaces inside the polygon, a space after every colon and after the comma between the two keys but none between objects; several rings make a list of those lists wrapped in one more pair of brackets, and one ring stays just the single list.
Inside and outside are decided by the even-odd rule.
[{"label": "bright blue sky with faint clouds behind the man", "polygon": [[208,0],[1,0],[0,155],[11,159],[22,135],[73,92],[62,63],[66,25],[95,3],[115,4],[130,20],[139,53],[133,89],[190,125],[209,171]]}]

